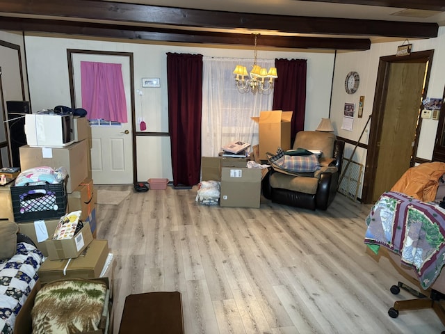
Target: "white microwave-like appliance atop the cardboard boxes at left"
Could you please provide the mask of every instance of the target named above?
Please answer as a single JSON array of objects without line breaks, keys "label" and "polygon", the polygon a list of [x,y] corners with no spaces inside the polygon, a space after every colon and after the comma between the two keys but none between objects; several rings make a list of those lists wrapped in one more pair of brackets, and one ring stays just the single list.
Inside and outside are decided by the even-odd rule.
[{"label": "white microwave-like appliance atop the cardboard boxes at left", "polygon": [[34,148],[63,148],[74,143],[72,115],[26,114],[24,128],[26,143]]}]

